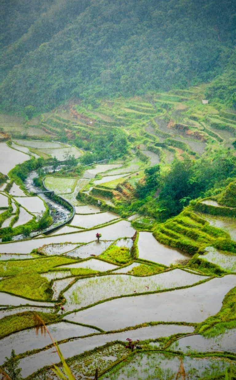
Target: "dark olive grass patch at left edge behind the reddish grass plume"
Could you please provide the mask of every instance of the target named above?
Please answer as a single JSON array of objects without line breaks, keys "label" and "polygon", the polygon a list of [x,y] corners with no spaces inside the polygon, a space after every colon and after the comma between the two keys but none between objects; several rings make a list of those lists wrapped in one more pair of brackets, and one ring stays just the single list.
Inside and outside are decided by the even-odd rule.
[{"label": "dark olive grass patch at left edge behind the reddish grass plume", "polygon": [[[26,311],[23,313],[17,313],[13,315],[8,315],[0,319],[0,339],[10,335],[13,332],[21,331],[34,326],[33,315],[35,313],[31,311]],[[59,320],[59,316],[52,313],[41,313],[37,314],[43,319],[44,323],[54,323]]]}]

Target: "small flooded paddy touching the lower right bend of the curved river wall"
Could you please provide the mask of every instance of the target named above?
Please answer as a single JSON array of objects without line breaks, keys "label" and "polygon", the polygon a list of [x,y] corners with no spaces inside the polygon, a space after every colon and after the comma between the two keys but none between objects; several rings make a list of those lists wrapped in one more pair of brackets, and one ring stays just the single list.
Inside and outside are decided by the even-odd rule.
[{"label": "small flooded paddy touching the lower right bend of the curved river wall", "polygon": [[74,215],[73,220],[71,221],[72,226],[78,226],[82,228],[91,228],[103,223],[110,222],[111,220],[119,218],[119,215],[114,214],[113,212],[102,212],[100,214],[94,215]]}]

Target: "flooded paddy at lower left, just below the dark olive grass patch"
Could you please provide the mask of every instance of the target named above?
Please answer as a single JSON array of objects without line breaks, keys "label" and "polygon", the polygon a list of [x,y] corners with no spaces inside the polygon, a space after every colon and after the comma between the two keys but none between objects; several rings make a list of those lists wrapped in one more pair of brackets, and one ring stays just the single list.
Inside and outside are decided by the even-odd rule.
[{"label": "flooded paddy at lower left, just below the dark olive grass patch", "polygon": [[[89,327],[73,325],[72,323],[60,322],[49,325],[49,331],[57,341],[72,337],[79,337],[97,333],[98,331]],[[16,354],[23,353],[35,348],[43,348],[51,344],[48,334],[44,336],[40,333],[37,335],[34,329],[16,332],[1,340],[0,347],[0,364],[5,361],[5,356],[11,356],[11,350],[14,348]],[[51,349],[52,351],[52,349]]]}]

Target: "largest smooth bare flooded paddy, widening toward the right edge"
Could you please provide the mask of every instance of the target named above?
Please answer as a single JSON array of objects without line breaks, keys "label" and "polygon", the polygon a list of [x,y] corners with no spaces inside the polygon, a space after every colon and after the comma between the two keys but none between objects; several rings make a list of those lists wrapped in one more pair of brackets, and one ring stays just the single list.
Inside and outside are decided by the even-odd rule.
[{"label": "largest smooth bare flooded paddy, widening toward the right edge", "polygon": [[151,321],[198,323],[219,312],[225,294],[236,286],[236,276],[214,278],[200,285],[173,291],[112,299],[67,316],[106,330]]}]

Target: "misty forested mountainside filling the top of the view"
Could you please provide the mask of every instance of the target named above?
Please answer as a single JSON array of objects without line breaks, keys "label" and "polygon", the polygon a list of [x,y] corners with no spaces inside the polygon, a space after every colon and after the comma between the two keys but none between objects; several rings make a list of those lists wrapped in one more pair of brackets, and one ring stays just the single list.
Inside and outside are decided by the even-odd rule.
[{"label": "misty forested mountainside filling the top of the view", "polygon": [[233,54],[235,14],[234,0],[2,0],[0,103],[45,111],[209,82]]}]

